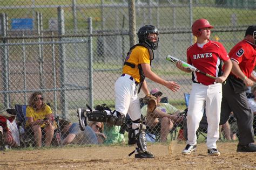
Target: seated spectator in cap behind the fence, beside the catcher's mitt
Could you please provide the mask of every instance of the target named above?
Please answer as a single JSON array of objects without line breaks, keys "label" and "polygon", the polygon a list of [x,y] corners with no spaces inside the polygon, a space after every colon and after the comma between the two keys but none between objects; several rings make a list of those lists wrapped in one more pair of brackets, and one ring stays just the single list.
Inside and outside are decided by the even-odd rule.
[{"label": "seated spectator in cap behind the fence, beside the catcher's mitt", "polygon": [[160,103],[163,93],[157,88],[150,91],[150,94],[157,98],[157,108],[153,112],[147,112],[147,105],[142,108],[142,115],[146,117],[147,126],[151,130],[160,130],[160,141],[166,142],[170,130],[173,128],[173,122],[180,122],[178,117],[180,111],[169,103]]}]

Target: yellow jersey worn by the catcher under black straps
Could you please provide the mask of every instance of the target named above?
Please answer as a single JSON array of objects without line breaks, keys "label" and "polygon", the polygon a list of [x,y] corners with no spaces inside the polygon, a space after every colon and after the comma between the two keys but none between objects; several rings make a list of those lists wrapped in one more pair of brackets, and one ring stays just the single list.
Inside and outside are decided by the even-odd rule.
[{"label": "yellow jersey worn by the catcher under black straps", "polygon": [[133,63],[134,65],[136,65],[136,67],[132,68],[130,66],[124,65],[123,74],[131,75],[135,79],[135,81],[139,83],[140,75],[139,75],[138,65],[141,63],[150,64],[149,49],[143,46],[136,46],[135,48],[132,49],[131,53],[127,55],[125,61]]}]

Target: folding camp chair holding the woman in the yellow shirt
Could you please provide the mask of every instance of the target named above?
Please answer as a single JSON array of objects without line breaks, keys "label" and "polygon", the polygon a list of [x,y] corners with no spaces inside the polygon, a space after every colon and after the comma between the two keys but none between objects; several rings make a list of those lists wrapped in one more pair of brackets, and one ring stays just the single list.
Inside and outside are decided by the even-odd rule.
[{"label": "folding camp chair holding the woman in the yellow shirt", "polygon": [[[49,103],[47,104],[50,106]],[[26,107],[27,105],[15,104],[15,109],[17,110],[18,130],[19,130],[19,135],[20,135],[21,143],[23,147],[33,146],[34,144],[33,141],[35,141],[33,139],[33,134],[25,130]],[[58,146],[62,146],[62,141],[61,141],[62,137],[61,137],[60,128],[59,128],[59,117],[52,118],[52,119],[54,119],[57,124],[57,129],[55,129],[55,132],[53,133],[52,140],[57,141]],[[44,137],[44,131],[42,131],[42,136]]]}]

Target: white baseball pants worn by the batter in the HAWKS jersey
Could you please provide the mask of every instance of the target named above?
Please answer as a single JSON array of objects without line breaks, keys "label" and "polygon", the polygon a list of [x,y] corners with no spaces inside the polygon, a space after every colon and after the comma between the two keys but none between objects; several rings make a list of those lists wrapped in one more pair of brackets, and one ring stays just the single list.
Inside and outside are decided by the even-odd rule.
[{"label": "white baseball pants worn by the batter in the HAWKS jersey", "polygon": [[203,117],[204,109],[207,117],[208,149],[217,148],[219,139],[220,108],[222,99],[222,84],[215,83],[209,86],[193,83],[187,111],[187,144],[196,145],[196,131]]}]

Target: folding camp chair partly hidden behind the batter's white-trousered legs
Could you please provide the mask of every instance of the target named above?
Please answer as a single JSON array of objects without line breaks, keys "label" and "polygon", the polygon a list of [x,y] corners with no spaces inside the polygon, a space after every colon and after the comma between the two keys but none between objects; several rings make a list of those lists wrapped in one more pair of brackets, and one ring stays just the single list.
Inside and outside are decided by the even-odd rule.
[{"label": "folding camp chair partly hidden behind the batter's white-trousered legs", "polygon": [[[190,94],[184,93],[184,98],[185,98],[186,107],[188,107],[188,102],[190,100]],[[186,120],[186,118],[184,119],[183,126],[184,126],[184,138],[187,140],[187,120]],[[203,118],[201,119],[200,124],[199,124],[199,128],[196,132],[197,138],[199,138],[199,135],[201,135],[201,136],[203,136],[203,141],[206,140],[206,138],[207,138],[207,135],[206,135],[207,134],[207,126],[208,126],[207,117],[206,117],[205,110],[204,110]]]}]

